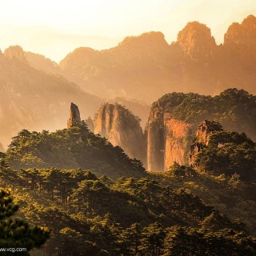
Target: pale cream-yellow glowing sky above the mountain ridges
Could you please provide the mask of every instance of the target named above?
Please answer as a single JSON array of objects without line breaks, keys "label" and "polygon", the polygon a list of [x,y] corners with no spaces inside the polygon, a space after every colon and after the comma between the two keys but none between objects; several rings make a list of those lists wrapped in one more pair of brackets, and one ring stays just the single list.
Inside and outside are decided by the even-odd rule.
[{"label": "pale cream-yellow glowing sky above the mountain ridges", "polygon": [[0,0],[0,48],[18,44],[58,62],[78,46],[109,48],[152,30],[170,43],[194,20],[220,43],[249,14],[256,0]]}]

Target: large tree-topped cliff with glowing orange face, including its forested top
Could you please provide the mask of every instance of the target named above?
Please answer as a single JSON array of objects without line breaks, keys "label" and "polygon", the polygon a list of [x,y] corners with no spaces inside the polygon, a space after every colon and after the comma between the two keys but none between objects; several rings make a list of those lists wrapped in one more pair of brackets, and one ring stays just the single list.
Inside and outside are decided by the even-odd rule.
[{"label": "large tree-topped cliff with glowing orange face, including its forested top", "polygon": [[[246,132],[256,140],[256,97],[244,90],[225,90],[215,97],[166,94],[151,106],[147,126],[147,169],[168,170],[174,162],[188,163],[190,150],[207,145],[212,131]],[[215,122],[203,120],[214,119]],[[198,124],[202,124],[198,128]],[[194,137],[197,140],[190,147]],[[192,162],[193,159],[190,159]]]}]

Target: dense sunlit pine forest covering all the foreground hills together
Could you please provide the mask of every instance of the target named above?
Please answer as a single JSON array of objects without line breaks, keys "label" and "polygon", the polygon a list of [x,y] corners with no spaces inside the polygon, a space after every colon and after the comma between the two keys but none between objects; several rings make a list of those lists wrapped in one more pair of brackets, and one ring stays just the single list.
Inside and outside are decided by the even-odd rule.
[{"label": "dense sunlit pine forest covering all the foreground hills together", "polygon": [[16,217],[42,230],[30,254],[255,255],[255,143],[203,124],[210,133],[191,141],[190,165],[151,173],[84,122],[18,133],[1,154],[1,183]]}]

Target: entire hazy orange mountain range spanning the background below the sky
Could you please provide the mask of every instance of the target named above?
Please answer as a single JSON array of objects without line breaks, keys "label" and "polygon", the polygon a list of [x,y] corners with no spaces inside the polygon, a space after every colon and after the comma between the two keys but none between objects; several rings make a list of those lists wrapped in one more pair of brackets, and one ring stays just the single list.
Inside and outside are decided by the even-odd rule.
[{"label": "entire hazy orange mountain range spanning the background below the sky", "polygon": [[237,87],[256,94],[255,64],[253,15],[233,23],[219,46],[198,22],[188,23],[171,45],[161,32],[150,32],[109,50],[78,48],[59,64],[10,46],[0,54],[0,142],[6,146],[23,128],[63,128],[70,102],[84,118],[94,117],[104,102],[118,102],[144,126],[150,106],[145,102],[166,93],[218,94]]}]

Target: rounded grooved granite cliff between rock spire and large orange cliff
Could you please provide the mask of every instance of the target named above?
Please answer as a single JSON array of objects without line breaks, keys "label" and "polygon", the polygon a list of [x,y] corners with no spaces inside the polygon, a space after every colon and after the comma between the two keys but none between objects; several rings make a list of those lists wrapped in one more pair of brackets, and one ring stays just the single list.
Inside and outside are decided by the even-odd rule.
[{"label": "rounded grooved granite cliff between rock spire and large orange cliff", "polygon": [[144,162],[145,146],[139,120],[118,104],[104,104],[95,114],[94,134],[106,137],[114,146],[120,146],[130,158]]}]

